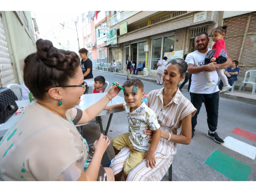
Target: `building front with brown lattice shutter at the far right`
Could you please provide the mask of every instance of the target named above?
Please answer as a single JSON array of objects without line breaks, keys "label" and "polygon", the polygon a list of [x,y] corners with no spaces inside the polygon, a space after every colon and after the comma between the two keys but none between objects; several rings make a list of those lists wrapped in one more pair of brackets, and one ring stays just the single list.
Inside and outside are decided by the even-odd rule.
[{"label": "building front with brown lattice shutter at the far right", "polygon": [[247,70],[256,69],[256,12],[224,11],[224,23],[228,26],[224,37],[228,56],[239,61],[241,81]]}]

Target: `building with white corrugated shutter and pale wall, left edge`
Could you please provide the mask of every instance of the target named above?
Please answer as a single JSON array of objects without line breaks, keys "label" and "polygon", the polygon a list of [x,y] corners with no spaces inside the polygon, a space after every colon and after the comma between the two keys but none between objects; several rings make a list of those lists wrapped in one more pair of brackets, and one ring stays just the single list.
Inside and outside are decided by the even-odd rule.
[{"label": "building with white corrugated shutter and pale wall, left edge", "polygon": [[24,59],[36,52],[30,11],[0,11],[0,86],[23,83]]}]

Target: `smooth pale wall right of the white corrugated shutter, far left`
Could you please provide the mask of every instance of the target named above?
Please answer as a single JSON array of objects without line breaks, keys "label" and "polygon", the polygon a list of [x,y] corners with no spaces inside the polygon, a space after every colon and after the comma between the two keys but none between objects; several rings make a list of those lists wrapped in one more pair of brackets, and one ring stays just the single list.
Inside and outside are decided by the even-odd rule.
[{"label": "smooth pale wall right of the white corrugated shutter, far left", "polygon": [[[18,12],[18,13],[16,13]],[[2,21],[17,83],[23,83],[24,59],[36,52],[35,36],[30,11],[3,11]]]}]

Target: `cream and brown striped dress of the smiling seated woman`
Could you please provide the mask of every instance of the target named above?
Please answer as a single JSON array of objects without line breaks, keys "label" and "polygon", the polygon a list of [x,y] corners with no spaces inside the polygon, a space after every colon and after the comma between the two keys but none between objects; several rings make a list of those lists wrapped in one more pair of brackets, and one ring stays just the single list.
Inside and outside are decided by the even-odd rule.
[{"label": "cream and brown striped dress of the smiling seated woman", "polygon": [[[164,88],[151,91],[147,95],[148,106],[155,111],[161,131],[177,134],[181,120],[191,113],[194,116],[196,108],[182,95],[179,88],[171,102],[164,106],[163,91]],[[172,164],[176,148],[177,143],[161,138],[155,152],[156,166],[153,169],[147,168],[144,159],[129,173],[126,181],[161,181]],[[130,153],[130,149],[124,147],[112,159],[110,168],[113,169],[115,175],[123,170],[124,162]]]}]

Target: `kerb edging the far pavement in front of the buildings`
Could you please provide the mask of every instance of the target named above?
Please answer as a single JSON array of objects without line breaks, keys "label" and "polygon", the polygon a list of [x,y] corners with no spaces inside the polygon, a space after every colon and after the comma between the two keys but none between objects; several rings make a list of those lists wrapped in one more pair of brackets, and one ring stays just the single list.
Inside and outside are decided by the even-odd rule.
[{"label": "kerb edging the far pavement in front of the buildings", "polygon": [[[94,69],[94,71],[108,73],[108,74],[115,74],[115,75],[119,75],[119,76],[127,76],[127,74],[112,73],[112,72],[108,72],[108,71],[100,71],[100,70],[95,70],[95,69]],[[135,75],[132,75],[132,74],[131,74],[131,77],[135,77],[135,78],[138,78],[140,80],[145,80],[145,81],[156,83],[156,79],[151,79],[151,78],[142,77],[142,76],[135,76]],[[182,89],[187,90],[188,89],[188,85],[185,84]],[[225,98],[225,99],[231,99],[231,100],[236,100],[236,101],[241,101],[241,102],[244,102],[244,103],[256,105],[256,100],[255,99],[250,99],[250,98],[244,98],[244,97],[240,97],[240,96],[229,95],[228,93],[220,94],[220,97],[221,98]]]}]

